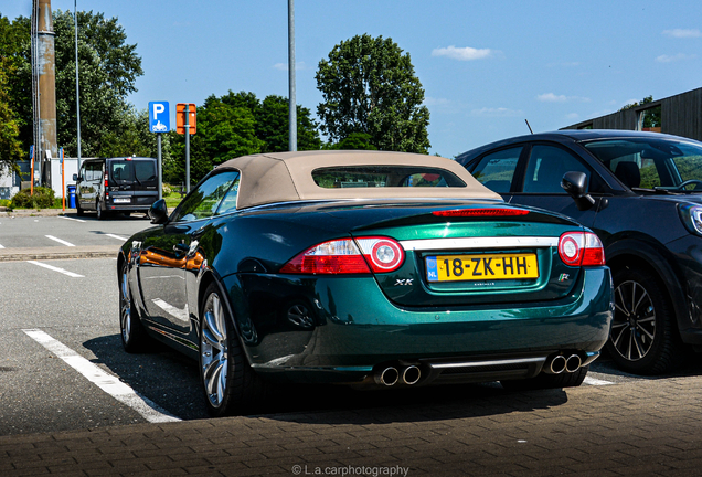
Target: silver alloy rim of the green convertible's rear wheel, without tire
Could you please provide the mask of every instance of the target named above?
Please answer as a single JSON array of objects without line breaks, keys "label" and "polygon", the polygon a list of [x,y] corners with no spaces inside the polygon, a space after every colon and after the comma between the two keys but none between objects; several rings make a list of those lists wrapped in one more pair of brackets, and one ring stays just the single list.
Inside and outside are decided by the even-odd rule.
[{"label": "silver alloy rim of the green convertible's rear wheel, without tire", "polygon": [[205,394],[213,407],[220,407],[226,395],[228,372],[228,336],[222,300],[216,293],[205,304],[200,338],[200,363]]}]

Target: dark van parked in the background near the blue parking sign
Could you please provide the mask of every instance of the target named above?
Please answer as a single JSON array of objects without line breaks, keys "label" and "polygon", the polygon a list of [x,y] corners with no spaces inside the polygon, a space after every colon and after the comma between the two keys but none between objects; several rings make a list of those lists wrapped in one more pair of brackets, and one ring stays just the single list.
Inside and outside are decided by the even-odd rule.
[{"label": "dark van parked in the background near the blue parking sign", "polygon": [[156,159],[117,157],[87,159],[76,181],[78,215],[96,211],[98,219],[109,212],[143,212],[159,198]]}]

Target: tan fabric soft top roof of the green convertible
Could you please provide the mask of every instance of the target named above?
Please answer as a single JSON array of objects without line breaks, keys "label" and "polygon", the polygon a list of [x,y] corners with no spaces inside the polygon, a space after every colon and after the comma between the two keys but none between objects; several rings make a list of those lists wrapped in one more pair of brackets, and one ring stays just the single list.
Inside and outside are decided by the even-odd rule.
[{"label": "tan fabric soft top roof of the green convertible", "polygon": [[[446,169],[466,182],[466,187],[436,188],[338,188],[317,186],[312,171],[345,166],[424,166]],[[502,198],[478,182],[456,161],[436,156],[384,151],[299,151],[269,152],[231,159],[219,168],[241,171],[237,209],[274,202],[337,199],[422,199],[422,198]],[[217,169],[219,169],[217,168]]]}]

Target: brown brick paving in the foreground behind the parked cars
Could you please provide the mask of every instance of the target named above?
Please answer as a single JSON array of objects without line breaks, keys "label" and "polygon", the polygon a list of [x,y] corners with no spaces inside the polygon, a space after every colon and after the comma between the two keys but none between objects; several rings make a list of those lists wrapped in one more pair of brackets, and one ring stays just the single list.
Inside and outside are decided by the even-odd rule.
[{"label": "brown brick paving in the foreground behind the parked cars", "polygon": [[687,477],[702,474],[701,390],[702,377],[641,379],[13,435],[0,475]]}]

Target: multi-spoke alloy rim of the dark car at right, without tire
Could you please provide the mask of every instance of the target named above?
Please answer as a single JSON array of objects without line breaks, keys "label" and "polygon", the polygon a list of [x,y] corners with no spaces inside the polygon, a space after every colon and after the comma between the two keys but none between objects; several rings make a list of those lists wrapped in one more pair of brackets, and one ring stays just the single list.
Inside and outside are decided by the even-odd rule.
[{"label": "multi-spoke alloy rim of the dark car at right, without tire", "polygon": [[656,341],[656,309],[650,295],[636,280],[623,282],[615,289],[615,316],[609,340],[628,361],[646,357]]}]

